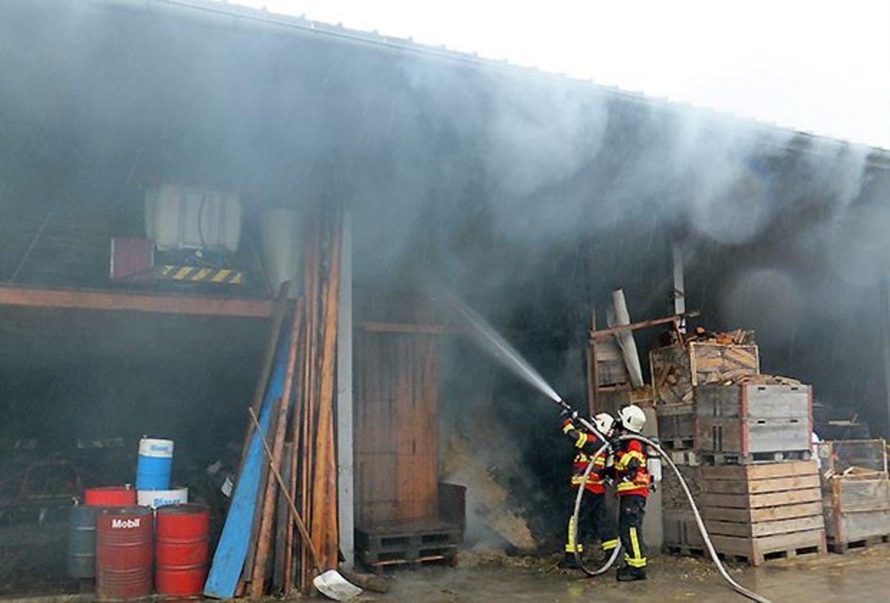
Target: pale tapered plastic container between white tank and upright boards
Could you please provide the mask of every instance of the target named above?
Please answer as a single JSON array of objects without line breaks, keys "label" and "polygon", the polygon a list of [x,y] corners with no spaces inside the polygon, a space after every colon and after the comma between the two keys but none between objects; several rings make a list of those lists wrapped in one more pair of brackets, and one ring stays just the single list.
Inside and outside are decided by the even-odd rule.
[{"label": "pale tapered plastic container between white tank and upright boards", "polygon": [[263,269],[272,293],[278,293],[281,285],[289,280],[292,285],[290,296],[296,298],[302,232],[300,213],[295,210],[273,209],[260,215]]}]

